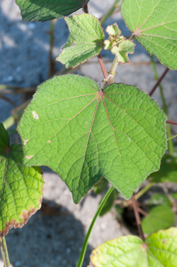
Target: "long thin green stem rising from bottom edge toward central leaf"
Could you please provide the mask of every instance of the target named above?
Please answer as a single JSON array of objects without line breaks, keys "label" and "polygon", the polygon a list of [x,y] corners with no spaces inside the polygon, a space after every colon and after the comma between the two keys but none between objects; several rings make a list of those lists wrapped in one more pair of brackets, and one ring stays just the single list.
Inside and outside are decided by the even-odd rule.
[{"label": "long thin green stem rising from bottom edge toward central leaf", "polygon": [[89,241],[89,236],[91,234],[91,230],[93,229],[93,225],[95,224],[96,222],[96,219],[98,217],[98,215],[100,214],[101,210],[103,209],[104,205],[105,205],[105,202],[108,200],[108,197],[110,196],[111,192],[113,192],[114,190],[114,187],[113,185],[108,189],[108,191],[106,192],[105,196],[103,197],[103,200],[101,200],[101,203],[100,205],[98,206],[98,209],[96,211],[96,214],[95,216],[93,217],[93,220],[91,222],[91,225],[89,227],[89,230],[86,234],[86,238],[84,240],[84,245],[82,247],[82,250],[81,250],[81,254],[80,254],[80,257],[79,257],[79,261],[76,265],[76,267],[81,267],[82,266],[82,263],[84,261],[84,256],[86,254],[86,247],[87,247],[87,244],[88,244],[88,241]]}]

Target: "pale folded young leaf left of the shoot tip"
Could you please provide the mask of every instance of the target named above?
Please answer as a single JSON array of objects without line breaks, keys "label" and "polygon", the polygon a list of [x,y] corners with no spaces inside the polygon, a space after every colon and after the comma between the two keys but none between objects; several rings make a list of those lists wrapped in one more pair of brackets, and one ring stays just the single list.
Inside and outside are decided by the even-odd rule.
[{"label": "pale folded young leaf left of the shoot tip", "polygon": [[101,52],[104,33],[96,17],[82,13],[64,19],[69,27],[70,36],[63,52],[57,58],[58,61],[66,67],[76,67]]}]

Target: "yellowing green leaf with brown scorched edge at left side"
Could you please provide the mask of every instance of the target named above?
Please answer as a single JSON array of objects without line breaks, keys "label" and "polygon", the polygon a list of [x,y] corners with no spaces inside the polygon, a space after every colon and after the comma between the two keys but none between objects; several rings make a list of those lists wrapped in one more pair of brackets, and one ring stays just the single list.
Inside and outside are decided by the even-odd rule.
[{"label": "yellowing green leaf with brown scorched edge at left side", "polygon": [[10,146],[8,133],[0,124],[0,236],[23,227],[41,206],[42,171],[25,167],[22,160],[21,146]]}]

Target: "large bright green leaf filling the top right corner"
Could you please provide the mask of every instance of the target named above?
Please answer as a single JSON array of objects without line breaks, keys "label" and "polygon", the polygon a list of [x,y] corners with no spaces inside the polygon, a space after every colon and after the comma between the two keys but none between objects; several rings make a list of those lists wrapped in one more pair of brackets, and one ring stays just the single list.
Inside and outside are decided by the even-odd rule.
[{"label": "large bright green leaf filling the top right corner", "polygon": [[149,53],[171,70],[177,69],[176,0],[124,0],[122,17]]}]

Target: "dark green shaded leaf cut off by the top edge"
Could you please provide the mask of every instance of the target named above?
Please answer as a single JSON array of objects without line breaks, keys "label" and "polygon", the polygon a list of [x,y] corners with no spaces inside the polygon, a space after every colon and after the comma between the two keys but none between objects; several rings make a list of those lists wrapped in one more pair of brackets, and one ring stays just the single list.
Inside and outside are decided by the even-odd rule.
[{"label": "dark green shaded leaf cut off by the top edge", "polygon": [[81,9],[89,0],[16,0],[23,21],[49,21]]}]

